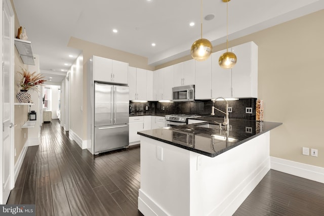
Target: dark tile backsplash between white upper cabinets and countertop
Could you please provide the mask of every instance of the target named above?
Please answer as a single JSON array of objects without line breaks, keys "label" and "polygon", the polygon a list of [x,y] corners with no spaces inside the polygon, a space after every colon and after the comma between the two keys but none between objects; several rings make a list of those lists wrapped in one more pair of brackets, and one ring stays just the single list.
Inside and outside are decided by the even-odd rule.
[{"label": "dark tile backsplash between white upper cabinets and countertop", "polygon": [[[229,118],[255,120],[256,98],[239,99],[238,101],[228,101],[228,106],[232,107]],[[213,102],[211,100],[195,102],[132,102],[130,101],[130,114],[198,114],[210,115],[212,112]],[[147,106],[147,110],[146,110]],[[215,107],[225,112],[225,102],[216,101]],[[253,113],[246,114],[246,107],[252,107]],[[215,110],[215,117],[223,117],[224,114]]]}]

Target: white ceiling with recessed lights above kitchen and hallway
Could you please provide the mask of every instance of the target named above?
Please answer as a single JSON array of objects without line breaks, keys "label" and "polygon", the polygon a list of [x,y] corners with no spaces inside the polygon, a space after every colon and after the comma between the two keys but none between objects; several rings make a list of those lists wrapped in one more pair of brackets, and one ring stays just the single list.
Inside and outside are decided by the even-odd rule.
[{"label": "white ceiling with recessed lights above kitchen and hallway", "polygon": [[[150,65],[190,55],[200,38],[199,0],[13,0],[44,75],[60,81],[82,52],[68,48],[71,36],[148,58]],[[229,40],[324,9],[324,0],[232,0]],[[204,0],[203,37],[226,41],[226,4]],[[193,27],[190,22],[195,22]],[[112,29],[118,29],[113,33]],[[155,47],[151,44],[154,42]],[[68,55],[73,55],[72,58]],[[64,65],[67,63],[68,65]],[[64,70],[62,72],[61,70]]]}]

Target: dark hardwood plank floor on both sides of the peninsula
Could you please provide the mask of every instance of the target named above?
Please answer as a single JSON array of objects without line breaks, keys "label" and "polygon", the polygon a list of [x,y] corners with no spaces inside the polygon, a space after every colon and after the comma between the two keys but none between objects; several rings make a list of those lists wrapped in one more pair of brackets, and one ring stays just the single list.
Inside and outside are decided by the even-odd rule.
[{"label": "dark hardwood plank floor on both sides of the peninsula", "polygon": [[[39,216],[143,215],[139,188],[139,146],[93,157],[53,120],[28,148],[7,204],[36,204]],[[270,170],[234,215],[324,215],[324,184]]]}]

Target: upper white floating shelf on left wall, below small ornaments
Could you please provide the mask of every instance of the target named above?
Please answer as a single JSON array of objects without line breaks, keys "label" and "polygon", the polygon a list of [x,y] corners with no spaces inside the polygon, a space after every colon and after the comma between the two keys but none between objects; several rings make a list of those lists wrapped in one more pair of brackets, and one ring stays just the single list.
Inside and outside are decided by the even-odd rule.
[{"label": "upper white floating shelf on left wall, below small ornaments", "polygon": [[24,64],[35,65],[34,56],[32,55],[31,42],[15,38],[15,46],[19,56]]}]

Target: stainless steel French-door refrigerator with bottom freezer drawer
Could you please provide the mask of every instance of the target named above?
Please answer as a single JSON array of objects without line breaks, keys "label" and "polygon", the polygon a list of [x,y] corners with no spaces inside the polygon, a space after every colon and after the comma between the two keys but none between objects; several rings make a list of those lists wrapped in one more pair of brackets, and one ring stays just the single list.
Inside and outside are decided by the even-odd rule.
[{"label": "stainless steel French-door refrigerator with bottom freezer drawer", "polygon": [[129,145],[129,87],[94,84],[94,154]]}]

